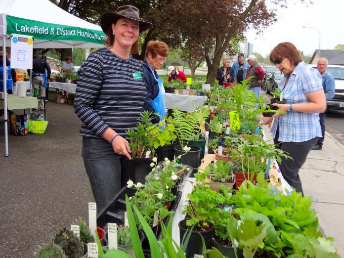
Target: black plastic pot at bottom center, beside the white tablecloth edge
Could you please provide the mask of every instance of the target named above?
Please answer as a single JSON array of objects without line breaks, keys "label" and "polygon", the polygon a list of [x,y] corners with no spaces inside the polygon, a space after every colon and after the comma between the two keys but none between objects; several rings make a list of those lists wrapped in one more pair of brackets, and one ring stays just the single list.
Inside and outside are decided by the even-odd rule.
[{"label": "black plastic pot at bottom center, beside the white tablecloth edge", "polygon": [[[183,219],[178,223],[180,239],[183,239],[184,234],[188,230],[185,223],[186,219]],[[207,231],[192,231],[185,249],[185,255],[187,258],[193,258],[195,254],[202,255],[202,237],[206,244],[206,249],[210,249],[210,240],[212,239],[213,228],[214,227],[212,226]]]}]

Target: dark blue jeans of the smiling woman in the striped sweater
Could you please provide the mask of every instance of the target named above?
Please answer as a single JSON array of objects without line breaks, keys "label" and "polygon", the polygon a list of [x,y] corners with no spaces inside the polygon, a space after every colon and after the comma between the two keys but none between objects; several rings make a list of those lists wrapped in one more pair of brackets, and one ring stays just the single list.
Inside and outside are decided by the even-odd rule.
[{"label": "dark blue jeans of the smiling woman in the striped sweater", "polygon": [[104,139],[83,136],[82,157],[92,188],[97,212],[121,190],[121,158]]}]

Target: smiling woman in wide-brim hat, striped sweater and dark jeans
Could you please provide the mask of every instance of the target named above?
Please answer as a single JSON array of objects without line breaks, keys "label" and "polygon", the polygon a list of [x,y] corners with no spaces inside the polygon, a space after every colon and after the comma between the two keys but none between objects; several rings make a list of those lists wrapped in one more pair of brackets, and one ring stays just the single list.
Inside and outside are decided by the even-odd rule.
[{"label": "smiling woman in wide-brim hat, striped sweater and dark jeans", "polygon": [[121,189],[121,158],[130,157],[126,131],[143,110],[146,88],[138,52],[138,35],[151,27],[131,5],[106,12],[101,28],[108,47],[89,55],[79,69],[74,110],[83,124],[82,156],[97,209],[103,209]]}]

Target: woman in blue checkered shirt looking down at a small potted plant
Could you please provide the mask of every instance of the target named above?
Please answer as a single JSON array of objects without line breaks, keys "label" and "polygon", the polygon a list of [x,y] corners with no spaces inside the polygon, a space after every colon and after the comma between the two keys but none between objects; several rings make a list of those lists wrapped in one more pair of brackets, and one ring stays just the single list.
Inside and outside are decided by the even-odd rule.
[{"label": "woman in blue checkered shirt looking down at a small potted plant", "polygon": [[274,143],[292,157],[282,157],[280,170],[286,181],[302,191],[299,170],[310,149],[321,137],[319,112],[326,109],[325,93],[318,71],[301,61],[298,49],[290,42],[279,43],[270,53],[270,61],[284,74],[279,84],[286,104],[272,105],[285,114],[263,117],[263,124],[271,127]]}]

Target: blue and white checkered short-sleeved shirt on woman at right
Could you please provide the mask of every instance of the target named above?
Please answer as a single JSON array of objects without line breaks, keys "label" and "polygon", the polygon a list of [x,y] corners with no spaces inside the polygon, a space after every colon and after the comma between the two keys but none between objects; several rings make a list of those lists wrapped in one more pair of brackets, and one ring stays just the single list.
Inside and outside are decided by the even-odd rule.
[{"label": "blue and white checkered short-sleeved shirt on woman at right", "polygon": [[[323,90],[320,73],[307,67],[304,62],[298,64],[291,73],[289,82],[284,87],[287,76],[279,84],[283,99],[286,104],[308,103],[309,100],[305,94]],[[278,140],[282,142],[303,142],[313,139],[316,136],[322,137],[319,123],[319,113],[302,113],[289,111],[274,119],[273,126],[270,130],[271,135],[275,138],[277,124],[279,129]]]}]

